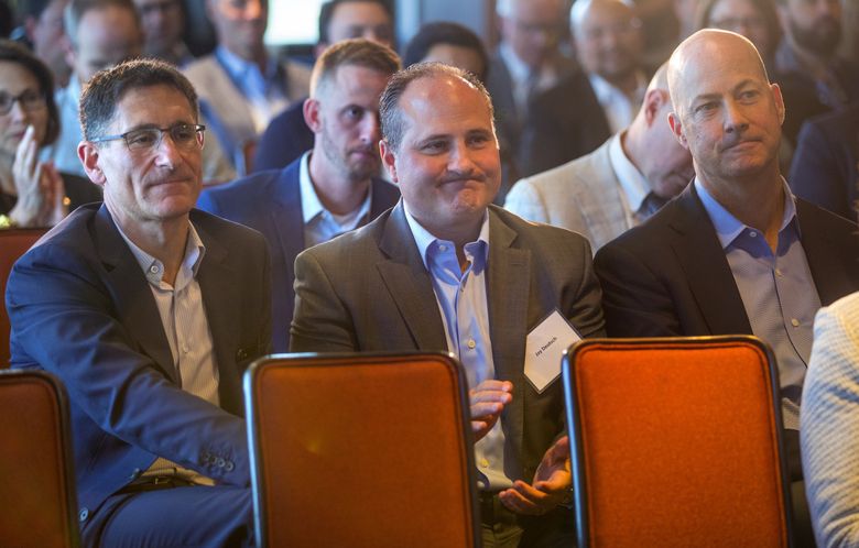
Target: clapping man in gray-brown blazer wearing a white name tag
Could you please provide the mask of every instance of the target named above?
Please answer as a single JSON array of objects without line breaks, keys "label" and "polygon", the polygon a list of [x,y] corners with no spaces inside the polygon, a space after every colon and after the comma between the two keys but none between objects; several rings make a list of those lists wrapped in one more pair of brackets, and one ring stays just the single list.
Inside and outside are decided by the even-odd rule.
[{"label": "clapping man in gray-brown blazer wearing a white name tag", "polygon": [[380,105],[382,161],[402,200],[298,255],[291,350],[455,353],[471,388],[483,545],[572,545],[559,364],[536,364],[526,338],[545,335],[546,318],[565,341],[573,328],[602,333],[590,246],[490,205],[498,141],[476,77],[414,65]]}]

